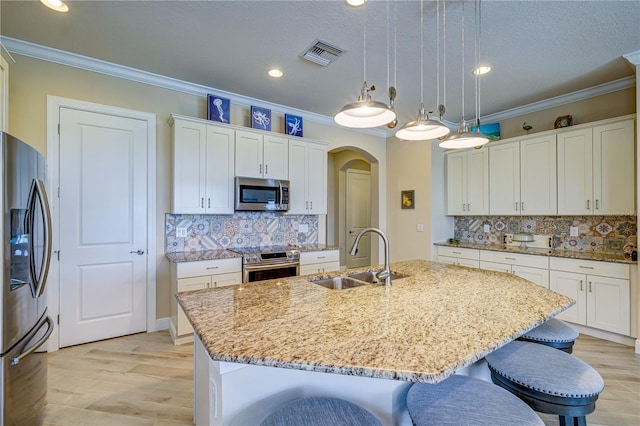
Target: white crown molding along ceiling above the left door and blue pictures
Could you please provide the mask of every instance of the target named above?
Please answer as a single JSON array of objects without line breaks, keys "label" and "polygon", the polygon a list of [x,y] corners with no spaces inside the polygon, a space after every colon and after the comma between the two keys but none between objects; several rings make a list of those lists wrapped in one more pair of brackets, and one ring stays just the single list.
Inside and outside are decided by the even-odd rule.
[{"label": "white crown molding along ceiling above the left door and blue pictures", "polygon": [[[325,115],[288,107],[286,105],[266,102],[261,99],[250,98],[248,96],[239,95],[237,93],[220,90],[215,87],[190,83],[184,80],[178,80],[176,78],[166,77],[136,68],[126,67],[124,65],[118,65],[111,62],[103,61],[101,59],[78,55],[75,53],[66,52],[64,50],[54,49],[52,47],[42,46],[11,37],[0,36],[0,43],[4,44],[8,51],[17,55],[54,62],[60,65],[79,68],[86,71],[108,75],[111,77],[122,78],[125,80],[135,81],[138,83],[148,84],[151,86],[161,87],[163,89],[174,90],[190,95],[201,96],[204,98],[207,97],[207,94],[215,92],[216,94],[228,98],[234,104],[241,105],[247,108],[251,107],[251,105],[258,105],[264,108],[269,108],[273,112],[282,114],[284,114],[285,112],[297,114],[310,121],[344,129],[344,127],[338,126],[333,121],[333,117],[327,117]],[[386,133],[380,129],[350,130],[386,138]]]}]

